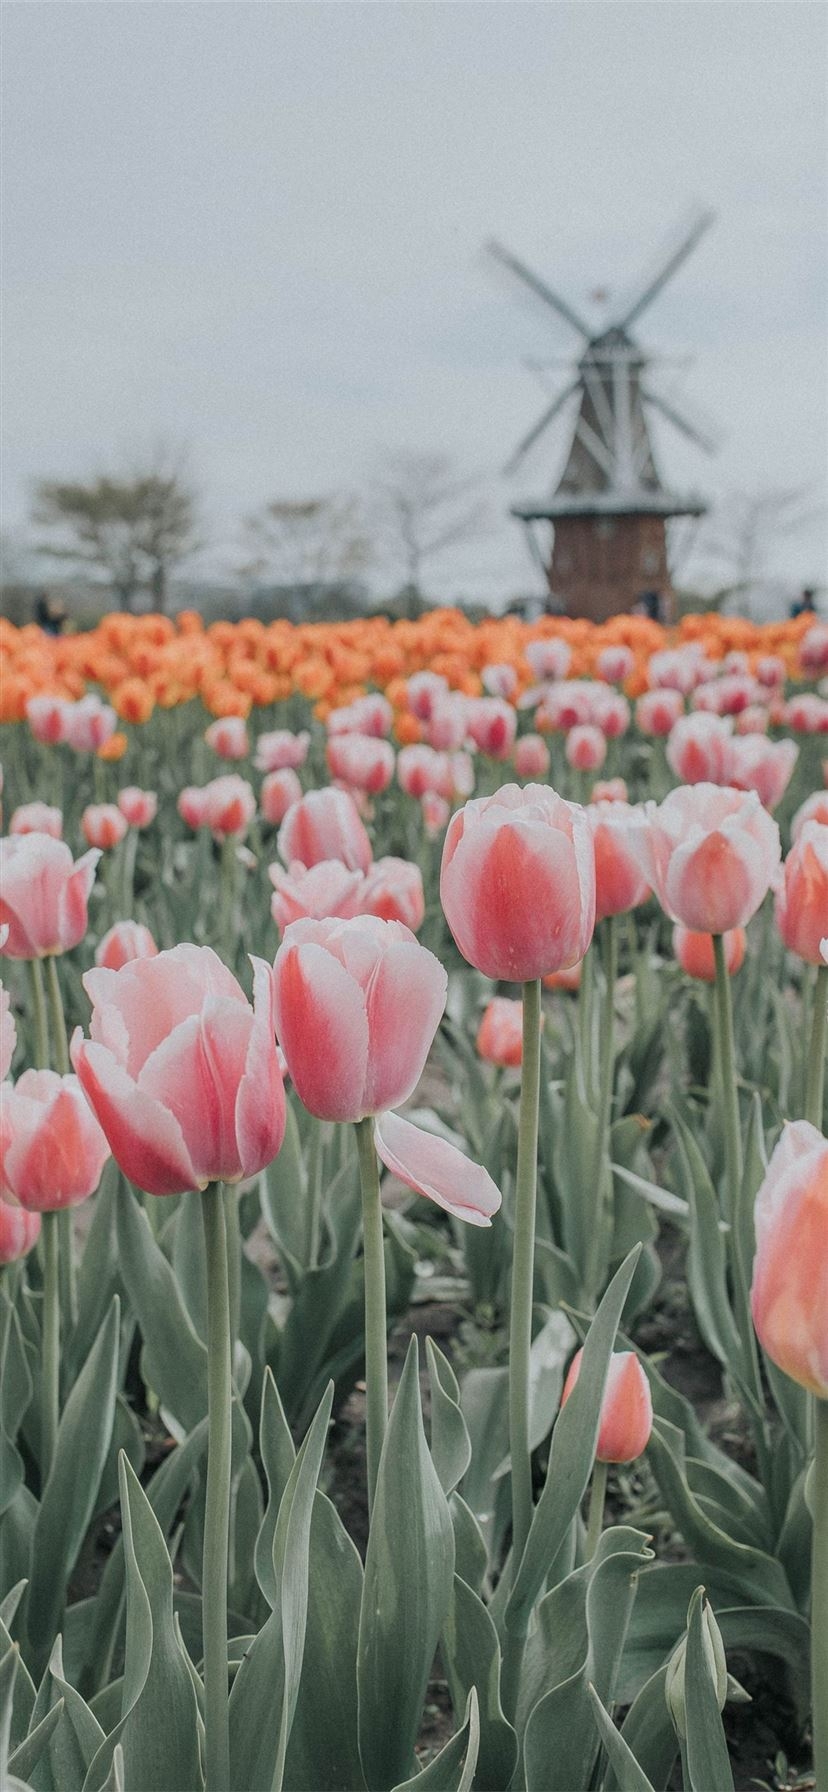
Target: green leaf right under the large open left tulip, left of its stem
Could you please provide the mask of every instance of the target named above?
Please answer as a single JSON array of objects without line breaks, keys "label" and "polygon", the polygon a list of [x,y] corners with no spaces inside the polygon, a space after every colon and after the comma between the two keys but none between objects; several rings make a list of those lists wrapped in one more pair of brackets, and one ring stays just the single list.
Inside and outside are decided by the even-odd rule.
[{"label": "green leaf right under the large open left tulip, left of its stem", "polygon": [[[206,1412],[206,1349],[176,1276],[127,1185],[118,1202],[120,1272],[143,1339],[143,1376],[161,1405],[192,1430]],[[127,1760],[129,1769],[129,1760]]]}]

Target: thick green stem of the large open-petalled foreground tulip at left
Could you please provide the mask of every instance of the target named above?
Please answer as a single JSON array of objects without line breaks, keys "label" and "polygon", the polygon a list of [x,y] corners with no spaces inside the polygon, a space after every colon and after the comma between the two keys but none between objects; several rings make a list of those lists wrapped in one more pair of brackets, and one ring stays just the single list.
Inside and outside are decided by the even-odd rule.
[{"label": "thick green stem of the large open-petalled foreground tulip at left", "polygon": [[231,1466],[231,1339],[224,1188],[201,1195],[208,1285],[208,1478],[204,1566],[201,1579],[204,1638],[206,1792],[229,1787],[228,1717],[228,1539]]}]

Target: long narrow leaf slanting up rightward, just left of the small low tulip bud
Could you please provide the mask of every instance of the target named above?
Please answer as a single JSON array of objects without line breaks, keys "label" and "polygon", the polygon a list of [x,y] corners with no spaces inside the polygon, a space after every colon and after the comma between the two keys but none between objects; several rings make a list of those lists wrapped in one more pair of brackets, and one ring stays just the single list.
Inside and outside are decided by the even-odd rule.
[{"label": "long narrow leaf slanting up rightward, just left of the small low tulip bud", "polygon": [[529,1613],[586,1493],[599,1441],[600,1401],[609,1357],[638,1256],[640,1247],[631,1251],[617,1269],[586,1333],[575,1387],[556,1419],[547,1480],[532,1514],[523,1559],[518,1564],[505,1607],[507,1629],[514,1629],[518,1634],[525,1631]]}]

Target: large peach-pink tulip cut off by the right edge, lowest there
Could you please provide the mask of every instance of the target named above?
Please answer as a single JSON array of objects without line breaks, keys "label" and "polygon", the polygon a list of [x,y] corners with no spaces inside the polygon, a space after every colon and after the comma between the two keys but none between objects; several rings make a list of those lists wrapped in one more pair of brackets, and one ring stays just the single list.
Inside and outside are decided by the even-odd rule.
[{"label": "large peach-pink tulip cut off by the right edge, lowest there", "polygon": [[762,1348],[792,1382],[828,1400],[828,1142],[783,1127],[756,1195],[751,1312]]}]

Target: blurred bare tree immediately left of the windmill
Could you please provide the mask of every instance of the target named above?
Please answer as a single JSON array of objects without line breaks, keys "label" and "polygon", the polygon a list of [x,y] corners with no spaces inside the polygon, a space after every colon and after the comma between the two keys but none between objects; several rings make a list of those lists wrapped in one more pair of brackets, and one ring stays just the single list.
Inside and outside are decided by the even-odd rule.
[{"label": "blurred bare tree immediately left of the windmill", "polygon": [[375,513],[389,561],[405,593],[421,600],[423,566],[489,529],[479,478],[461,478],[448,455],[387,455],[375,480]]}]

